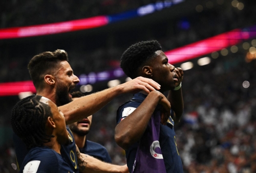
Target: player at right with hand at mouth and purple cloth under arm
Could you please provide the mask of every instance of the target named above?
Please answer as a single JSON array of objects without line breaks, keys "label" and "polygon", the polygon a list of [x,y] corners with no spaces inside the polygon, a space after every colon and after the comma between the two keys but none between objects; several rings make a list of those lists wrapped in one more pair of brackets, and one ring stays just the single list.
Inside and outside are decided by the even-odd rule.
[{"label": "player at right with hand at mouth and purple cloth under arm", "polygon": [[[183,172],[174,132],[183,112],[183,71],[169,64],[161,49],[156,40],[141,41],[121,57],[120,66],[127,76],[150,78],[161,85],[159,91],[134,94],[117,111],[115,140],[125,150],[130,172]],[[167,98],[165,91],[169,91]],[[170,114],[168,106],[172,106]],[[164,126],[160,118],[166,113]]]}]

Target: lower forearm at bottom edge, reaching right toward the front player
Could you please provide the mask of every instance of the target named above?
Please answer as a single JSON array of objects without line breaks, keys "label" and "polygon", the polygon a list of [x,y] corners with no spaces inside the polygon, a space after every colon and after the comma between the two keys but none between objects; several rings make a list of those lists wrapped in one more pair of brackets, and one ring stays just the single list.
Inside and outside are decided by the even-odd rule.
[{"label": "lower forearm at bottom edge, reaching right toward the front player", "polygon": [[[78,150],[78,147],[77,147]],[[80,153],[79,150],[77,151],[77,162],[79,167],[79,172],[86,172],[86,173],[110,173],[110,172],[120,172],[120,173],[129,173],[129,169],[127,165],[113,165],[110,163],[102,162],[92,156],[87,154]]]}]

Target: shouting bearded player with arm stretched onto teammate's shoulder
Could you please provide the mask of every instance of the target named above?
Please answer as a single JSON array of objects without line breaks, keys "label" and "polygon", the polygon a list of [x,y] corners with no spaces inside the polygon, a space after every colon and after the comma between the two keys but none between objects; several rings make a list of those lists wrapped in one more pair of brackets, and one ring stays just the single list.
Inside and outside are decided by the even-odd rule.
[{"label": "shouting bearded player with arm stretched onto teammate's shoulder", "polygon": [[[73,73],[66,51],[56,50],[55,52],[38,54],[30,60],[28,69],[36,88],[36,95],[47,97],[55,103],[58,109],[63,112],[67,125],[94,114],[119,94],[140,90],[149,93],[155,88],[160,89],[160,85],[153,80],[137,78],[71,102],[72,96],[69,92],[79,83],[79,79]],[[79,171],[84,172],[88,162],[87,155],[80,154],[68,126],[67,131],[70,135],[71,144],[62,145],[61,155],[74,172],[78,172],[78,165]],[[28,151],[25,144],[15,134],[13,140],[19,165],[23,162]]]}]

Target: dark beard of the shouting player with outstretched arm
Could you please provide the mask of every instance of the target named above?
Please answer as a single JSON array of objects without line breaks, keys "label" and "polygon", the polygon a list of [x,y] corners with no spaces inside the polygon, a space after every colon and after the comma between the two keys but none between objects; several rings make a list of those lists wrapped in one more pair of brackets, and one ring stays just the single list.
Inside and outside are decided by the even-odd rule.
[{"label": "dark beard of the shouting player with outstretched arm", "polygon": [[69,91],[60,84],[57,84],[56,87],[56,102],[59,103],[60,105],[66,105],[70,102],[72,102],[72,98],[69,96]]}]

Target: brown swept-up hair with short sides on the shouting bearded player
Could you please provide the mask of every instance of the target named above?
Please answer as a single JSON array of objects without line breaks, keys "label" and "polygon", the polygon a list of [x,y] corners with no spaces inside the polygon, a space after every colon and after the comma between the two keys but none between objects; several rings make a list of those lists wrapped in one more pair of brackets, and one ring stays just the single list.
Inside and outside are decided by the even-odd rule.
[{"label": "brown swept-up hair with short sides on the shouting bearded player", "polygon": [[59,63],[68,60],[68,53],[64,50],[43,52],[34,56],[28,64],[28,69],[35,88],[43,88],[45,75],[54,75]]}]

